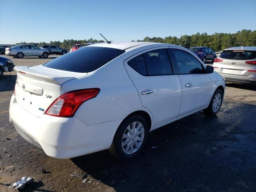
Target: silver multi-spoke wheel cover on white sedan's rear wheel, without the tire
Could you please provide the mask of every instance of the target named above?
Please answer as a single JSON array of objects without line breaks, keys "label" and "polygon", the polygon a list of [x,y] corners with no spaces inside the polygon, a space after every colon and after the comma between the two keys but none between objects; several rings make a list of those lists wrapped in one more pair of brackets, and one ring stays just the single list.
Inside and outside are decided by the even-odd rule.
[{"label": "silver multi-spoke wheel cover on white sedan's rear wheel, without the tire", "polygon": [[134,121],[126,127],[121,141],[125,154],[133,154],[140,148],[144,140],[144,131],[144,126],[138,121]]}]

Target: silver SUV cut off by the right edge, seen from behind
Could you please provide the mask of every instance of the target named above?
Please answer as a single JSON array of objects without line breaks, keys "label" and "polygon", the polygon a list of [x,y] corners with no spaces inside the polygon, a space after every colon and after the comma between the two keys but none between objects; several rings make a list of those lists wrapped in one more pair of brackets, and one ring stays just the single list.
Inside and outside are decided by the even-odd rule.
[{"label": "silver SUV cut off by the right edge, seen from behind", "polygon": [[256,85],[256,47],[225,49],[213,67],[226,81]]}]

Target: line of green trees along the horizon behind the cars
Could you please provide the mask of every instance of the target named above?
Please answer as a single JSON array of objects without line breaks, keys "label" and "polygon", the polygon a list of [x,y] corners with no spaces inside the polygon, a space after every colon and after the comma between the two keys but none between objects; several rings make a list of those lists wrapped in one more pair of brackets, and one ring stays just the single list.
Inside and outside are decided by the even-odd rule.
[{"label": "line of green trees along the horizon behind the cars", "polygon": [[[132,40],[134,42],[135,40]],[[212,48],[214,51],[221,51],[225,48],[234,47],[234,46],[256,46],[256,30],[242,30],[234,34],[230,33],[214,33],[208,35],[207,33],[196,33],[193,35],[182,35],[180,38],[176,36],[168,36],[165,38],[162,37],[145,37],[143,40],[136,40],[137,42],[159,42],[159,43],[169,43],[180,45],[186,48],[193,46],[206,46]],[[33,44],[35,46],[41,45],[56,45],[62,48],[70,49],[73,44],[81,44],[88,42],[104,42],[103,40],[88,39],[88,40],[73,40],[73,39],[64,39],[63,42],[60,41],[50,41],[46,42],[20,42],[16,44]],[[13,45],[12,45],[13,46]]]}]

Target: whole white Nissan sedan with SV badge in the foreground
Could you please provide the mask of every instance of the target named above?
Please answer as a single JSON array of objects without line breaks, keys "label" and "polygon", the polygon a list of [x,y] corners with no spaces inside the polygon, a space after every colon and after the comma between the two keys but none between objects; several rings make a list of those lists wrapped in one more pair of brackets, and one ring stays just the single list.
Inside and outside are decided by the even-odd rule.
[{"label": "whole white Nissan sedan with SV badge in the foreground", "polygon": [[54,158],[108,149],[136,156],[148,132],[220,110],[225,82],[190,50],[172,44],[86,46],[39,66],[16,66],[10,122]]}]

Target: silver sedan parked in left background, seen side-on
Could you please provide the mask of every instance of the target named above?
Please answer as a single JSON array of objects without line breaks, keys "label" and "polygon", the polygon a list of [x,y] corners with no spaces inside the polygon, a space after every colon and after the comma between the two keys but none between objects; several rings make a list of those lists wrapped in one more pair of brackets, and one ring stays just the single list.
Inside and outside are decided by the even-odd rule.
[{"label": "silver sedan parked in left background, seen side-on", "polygon": [[5,54],[17,58],[23,58],[25,56],[38,56],[47,58],[50,54],[50,51],[38,48],[34,45],[16,45],[10,48],[5,48]]}]

